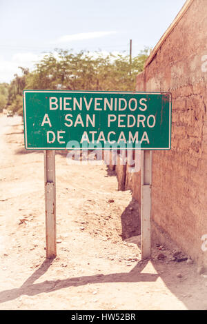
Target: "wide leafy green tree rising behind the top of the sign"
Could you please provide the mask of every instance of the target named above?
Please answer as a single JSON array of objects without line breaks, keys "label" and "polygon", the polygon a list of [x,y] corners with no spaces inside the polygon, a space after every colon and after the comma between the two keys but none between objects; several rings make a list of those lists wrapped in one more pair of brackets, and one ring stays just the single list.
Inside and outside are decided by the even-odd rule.
[{"label": "wide leafy green tree rising behind the top of the sign", "polygon": [[91,54],[81,51],[58,50],[46,54],[32,72],[21,68],[22,76],[14,74],[8,89],[8,105],[11,110],[22,115],[23,89],[42,90],[101,90],[133,91],[137,73],[144,68],[148,49],[133,57],[114,55],[106,57],[100,52]]}]

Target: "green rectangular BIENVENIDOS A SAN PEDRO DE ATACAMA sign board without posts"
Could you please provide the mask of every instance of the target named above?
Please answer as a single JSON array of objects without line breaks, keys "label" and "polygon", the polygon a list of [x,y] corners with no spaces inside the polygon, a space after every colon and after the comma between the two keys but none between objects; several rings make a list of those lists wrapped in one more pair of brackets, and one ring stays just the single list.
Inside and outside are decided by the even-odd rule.
[{"label": "green rectangular BIENVENIDOS A SAN PEDRO DE ATACAMA sign board without posts", "polygon": [[170,150],[171,94],[24,90],[28,150]]}]

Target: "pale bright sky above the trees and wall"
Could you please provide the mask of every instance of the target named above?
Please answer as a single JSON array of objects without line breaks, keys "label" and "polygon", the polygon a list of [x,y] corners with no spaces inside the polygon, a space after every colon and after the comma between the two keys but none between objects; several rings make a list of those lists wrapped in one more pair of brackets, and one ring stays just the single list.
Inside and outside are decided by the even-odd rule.
[{"label": "pale bright sky above the trees and wall", "polygon": [[154,48],[185,0],[0,0],[0,83],[55,48],[121,52]]}]

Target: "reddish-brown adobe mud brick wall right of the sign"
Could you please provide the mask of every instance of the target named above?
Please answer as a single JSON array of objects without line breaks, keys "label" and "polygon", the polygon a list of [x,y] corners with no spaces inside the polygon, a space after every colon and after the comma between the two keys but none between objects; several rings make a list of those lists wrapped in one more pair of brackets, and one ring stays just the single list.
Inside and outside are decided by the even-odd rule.
[{"label": "reddish-brown adobe mud brick wall right of the sign", "polygon": [[152,152],[152,223],[207,266],[207,251],[201,249],[201,236],[207,234],[204,55],[207,1],[195,0],[138,75],[136,90],[172,92],[172,148]]}]

